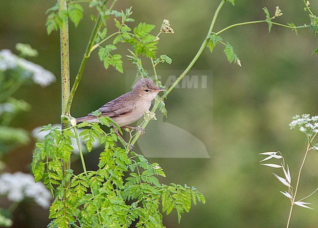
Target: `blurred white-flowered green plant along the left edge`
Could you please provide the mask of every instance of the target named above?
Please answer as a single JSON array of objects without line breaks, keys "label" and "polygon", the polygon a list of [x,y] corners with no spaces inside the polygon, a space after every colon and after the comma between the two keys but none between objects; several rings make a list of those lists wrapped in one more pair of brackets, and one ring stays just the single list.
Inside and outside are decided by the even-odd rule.
[{"label": "blurred white-flowered green plant along the left edge", "polygon": [[41,182],[34,183],[32,175],[2,173],[5,166],[2,156],[30,142],[27,130],[10,126],[18,115],[30,110],[26,101],[13,97],[14,93],[24,85],[47,86],[55,80],[51,72],[24,59],[36,57],[36,49],[21,43],[16,45],[16,49],[20,52],[19,56],[7,49],[0,50],[0,196],[12,201],[8,208],[0,208],[0,227],[12,226],[12,213],[25,198],[33,198],[44,208],[51,200],[45,186]]}]

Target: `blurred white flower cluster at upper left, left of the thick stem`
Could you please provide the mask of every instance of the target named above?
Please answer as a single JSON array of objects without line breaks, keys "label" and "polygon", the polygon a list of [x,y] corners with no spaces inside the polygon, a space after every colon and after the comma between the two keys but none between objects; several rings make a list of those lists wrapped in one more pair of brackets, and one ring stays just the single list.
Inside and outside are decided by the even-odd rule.
[{"label": "blurred white flower cluster at upper left, left of the thick stem", "polygon": [[5,71],[17,67],[31,73],[33,82],[42,87],[48,86],[56,80],[54,74],[45,68],[12,54],[8,49],[0,50],[0,70]]}]

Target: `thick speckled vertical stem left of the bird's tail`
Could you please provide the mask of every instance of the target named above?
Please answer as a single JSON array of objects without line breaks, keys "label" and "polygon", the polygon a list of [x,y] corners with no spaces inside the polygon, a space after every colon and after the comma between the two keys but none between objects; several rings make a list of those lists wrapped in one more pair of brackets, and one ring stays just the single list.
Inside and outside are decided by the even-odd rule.
[{"label": "thick speckled vertical stem left of the bird's tail", "polygon": [[[67,11],[67,0],[58,0],[59,11]],[[69,44],[68,44],[68,18],[63,19],[63,25],[60,30],[60,43],[61,43],[61,79],[62,79],[62,129],[69,127],[67,110],[68,97],[69,97]],[[66,170],[70,168],[70,159],[62,160],[63,177],[66,176]],[[65,188],[68,187],[68,182],[65,182]]]}]

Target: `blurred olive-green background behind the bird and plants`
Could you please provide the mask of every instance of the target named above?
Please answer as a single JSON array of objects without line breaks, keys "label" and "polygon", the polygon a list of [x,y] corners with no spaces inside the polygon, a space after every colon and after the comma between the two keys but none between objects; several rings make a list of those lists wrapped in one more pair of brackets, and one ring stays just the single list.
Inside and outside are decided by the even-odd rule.
[{"label": "blurred olive-green background behind the bird and plants", "polygon": [[[31,111],[16,118],[13,125],[28,130],[60,121],[59,33],[47,36],[45,28],[45,11],[54,4],[54,0],[0,0],[0,49],[16,52],[16,43],[30,44],[39,51],[39,57],[30,60],[57,77],[57,82],[48,88],[24,86],[15,95],[30,103]],[[161,36],[158,53],[170,56],[173,64],[159,69],[178,70],[180,74],[201,46],[218,4],[219,1],[207,0],[125,0],[118,1],[115,9],[133,5],[133,24],[152,23],[158,30],[162,20],[169,19],[175,34]],[[235,4],[225,4],[214,31],[232,23],[263,20],[265,6],[272,15],[280,6],[283,16],[276,22],[310,23],[302,0],[237,0]],[[311,7],[314,13],[318,12],[317,2],[312,1]],[[69,26],[71,82],[91,33],[91,13],[94,11],[85,7],[84,20],[78,28]],[[167,178],[162,182],[196,186],[204,194],[206,204],[193,206],[190,213],[183,214],[180,225],[176,213],[164,216],[164,224],[167,228],[285,227],[290,201],[279,190],[287,188],[272,174],[281,176],[281,170],[259,165],[264,157],[258,153],[281,151],[295,184],[306,138],[291,131],[288,124],[295,114],[318,114],[318,55],[311,55],[318,47],[317,39],[308,29],[299,30],[296,36],[291,29],[273,26],[268,33],[265,23],[232,28],[221,36],[234,47],[242,67],[228,63],[222,45],[216,46],[212,54],[204,50],[192,69],[213,71],[207,78],[207,88],[175,89],[166,101],[168,118],[163,120],[201,140],[211,158],[149,158],[159,162],[165,171]],[[119,52],[125,56],[127,48],[121,45]],[[124,70],[135,69],[123,59]],[[149,65],[145,66],[151,71]],[[127,92],[127,77],[134,75],[112,68],[105,70],[97,52],[93,52],[71,114],[86,115]],[[5,171],[29,172],[33,149],[34,144],[30,143],[6,155]],[[88,166],[94,168],[98,152],[86,155],[86,159]],[[317,161],[317,153],[308,155],[298,199],[317,188]],[[73,167],[80,170],[77,162]],[[317,194],[307,201],[316,209],[295,207],[290,227],[318,227]],[[14,216],[16,228],[41,228],[48,223],[48,211],[32,203],[23,203]]]}]

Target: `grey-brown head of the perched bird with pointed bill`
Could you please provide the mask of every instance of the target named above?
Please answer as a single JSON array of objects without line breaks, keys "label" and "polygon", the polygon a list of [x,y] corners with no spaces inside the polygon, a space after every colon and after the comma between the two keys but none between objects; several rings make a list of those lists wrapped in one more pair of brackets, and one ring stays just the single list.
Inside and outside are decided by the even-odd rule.
[{"label": "grey-brown head of the perched bird with pointed bill", "polygon": [[137,92],[140,97],[150,101],[152,101],[160,91],[166,91],[166,89],[159,88],[154,81],[149,78],[140,79],[133,87],[133,92]]}]

